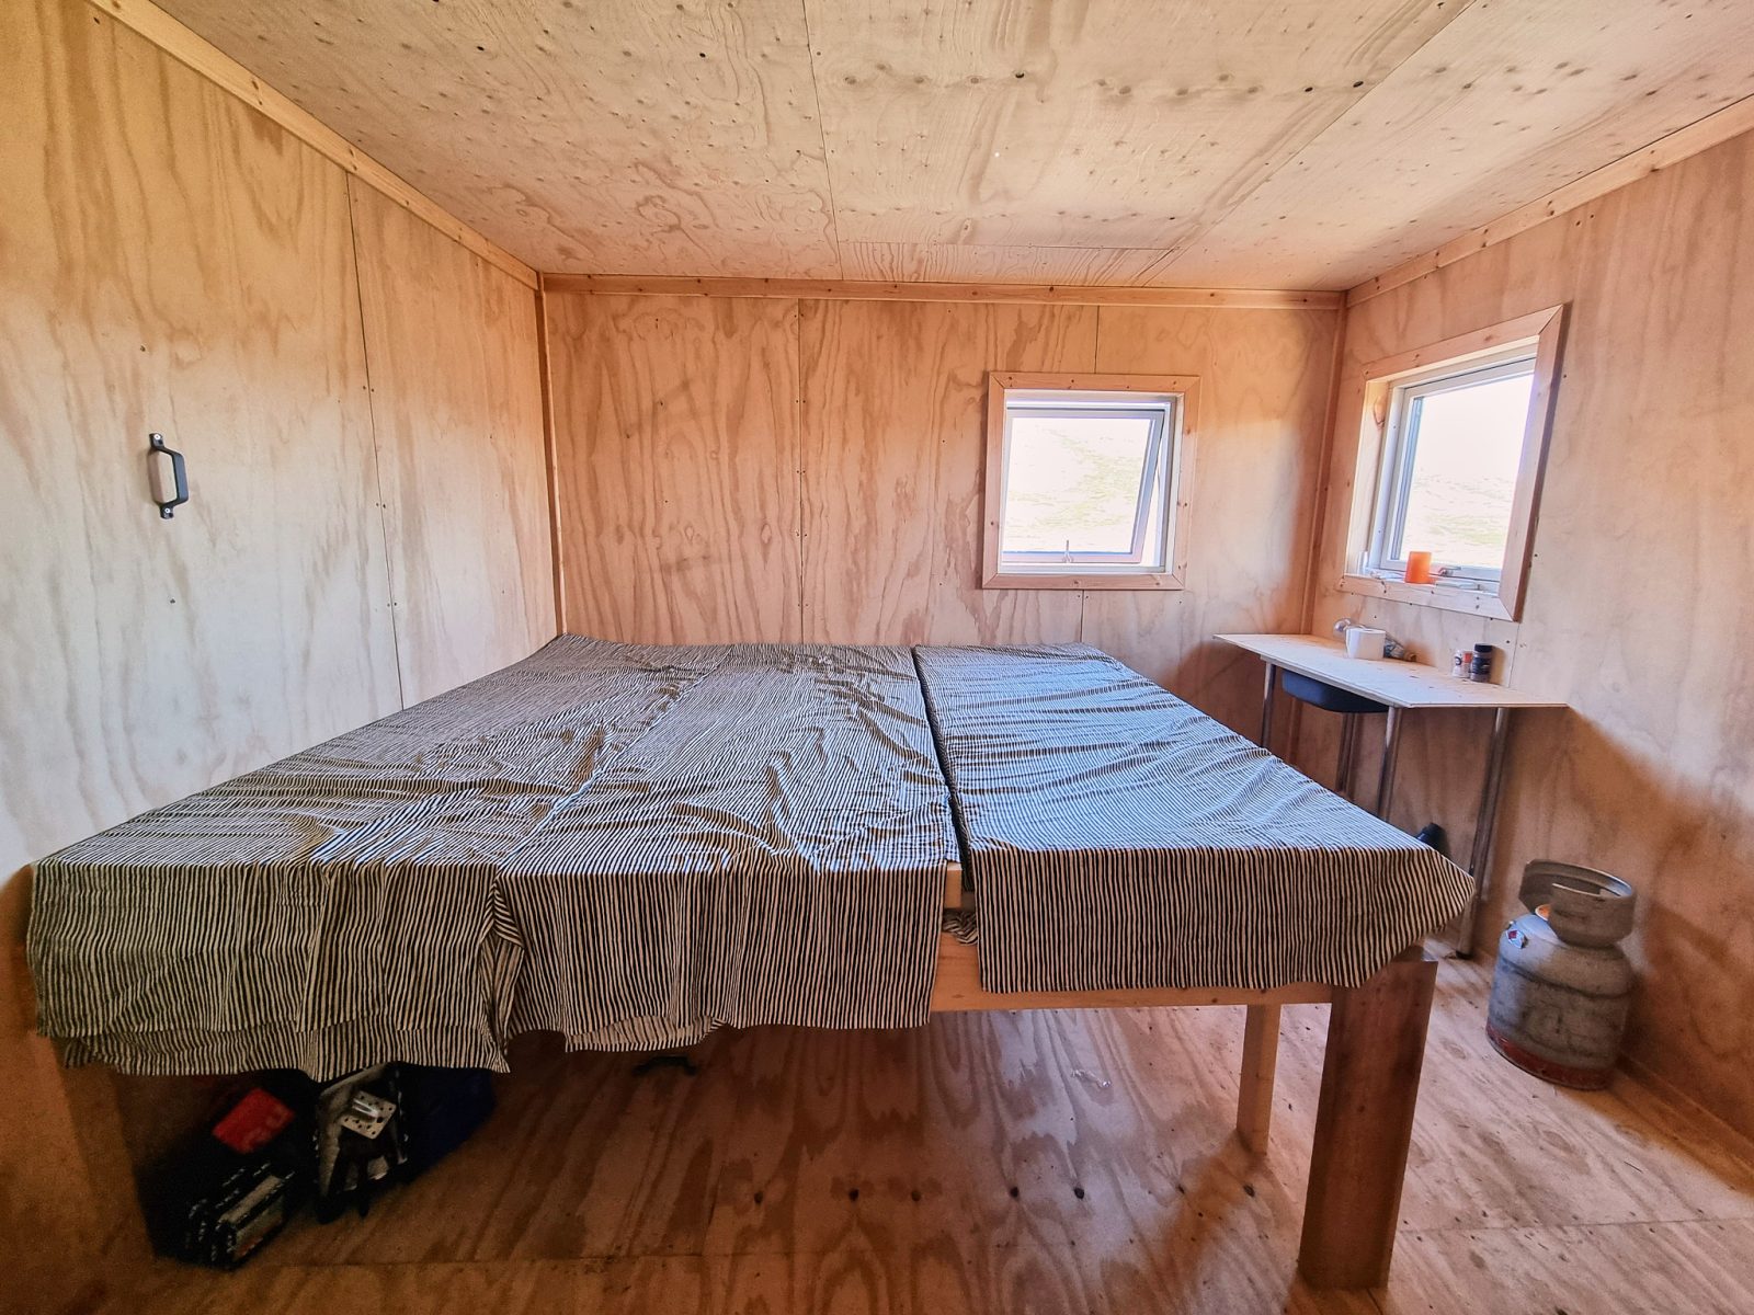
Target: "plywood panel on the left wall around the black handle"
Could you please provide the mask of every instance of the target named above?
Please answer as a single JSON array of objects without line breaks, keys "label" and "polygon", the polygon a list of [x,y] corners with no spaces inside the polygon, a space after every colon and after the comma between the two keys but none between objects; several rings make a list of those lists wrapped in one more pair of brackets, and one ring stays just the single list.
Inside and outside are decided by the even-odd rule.
[{"label": "plywood panel on the left wall around the black handle", "polygon": [[132,1212],[28,1034],[12,873],[391,712],[396,672],[346,174],[84,5],[0,9],[0,1261],[53,1308]]}]

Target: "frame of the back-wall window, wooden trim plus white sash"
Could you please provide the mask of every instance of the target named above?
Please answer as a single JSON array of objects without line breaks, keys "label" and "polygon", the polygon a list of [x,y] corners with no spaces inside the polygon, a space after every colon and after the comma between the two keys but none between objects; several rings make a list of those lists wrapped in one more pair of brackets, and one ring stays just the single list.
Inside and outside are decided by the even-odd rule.
[{"label": "frame of the back-wall window, wooden trim plus white sash", "polygon": [[[986,410],[986,503],[982,515],[982,589],[1182,589],[1186,587],[1189,489],[1193,473],[1193,440],[1196,424],[1200,380],[1194,375],[1047,375],[993,372],[988,375]],[[1044,394],[1066,393],[1065,402],[1044,402]],[[1147,470],[1140,482],[1140,510],[1161,489],[1163,496],[1163,565],[1138,566],[1144,558],[1140,533],[1149,535],[1149,514],[1135,515],[1135,552],[1121,554],[1080,552],[1066,558],[1063,552],[1030,554],[1042,559],[1037,570],[1019,570],[1017,558],[1002,554],[1002,519],[1005,505],[1005,472],[1010,458],[1012,407],[1037,403],[1044,410],[1077,412],[1110,409],[1126,402],[1128,394],[1151,394],[1161,400],[1163,430],[1154,433],[1147,449]],[[1140,398],[1142,402],[1144,398]],[[1135,403],[1137,405],[1137,403]],[[1152,466],[1156,461],[1156,466]],[[1161,475],[1161,479],[1159,479]],[[1145,540],[1151,542],[1149,538]],[[1137,556],[1135,556],[1137,554]]]}]

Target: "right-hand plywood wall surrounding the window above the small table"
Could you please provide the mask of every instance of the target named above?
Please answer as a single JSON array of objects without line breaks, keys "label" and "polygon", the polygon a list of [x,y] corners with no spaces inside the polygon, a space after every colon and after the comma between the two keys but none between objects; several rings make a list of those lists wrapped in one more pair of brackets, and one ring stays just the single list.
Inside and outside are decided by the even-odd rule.
[{"label": "right-hand plywood wall surrounding the window above the small table", "polygon": [[[1512,684],[1570,700],[1515,731],[1496,908],[1510,912],[1537,857],[1631,880],[1631,1050],[1754,1133],[1754,139],[1361,302],[1345,366],[1559,302],[1570,323],[1522,622],[1333,587],[1356,377],[1340,393],[1317,619],[1363,615],[1433,652],[1493,642]],[[1475,731],[1461,719],[1417,738],[1398,822],[1437,817],[1466,842]],[[1326,771],[1331,750],[1308,752]]]}]

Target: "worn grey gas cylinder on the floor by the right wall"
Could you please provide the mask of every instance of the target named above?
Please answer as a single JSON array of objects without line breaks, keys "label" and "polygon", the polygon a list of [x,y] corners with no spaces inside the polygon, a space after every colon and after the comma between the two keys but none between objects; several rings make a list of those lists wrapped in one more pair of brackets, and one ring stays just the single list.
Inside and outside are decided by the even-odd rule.
[{"label": "worn grey gas cylinder on the floor by the right wall", "polygon": [[1633,966],[1619,942],[1636,894],[1619,877],[1572,863],[1531,863],[1529,910],[1505,928],[1486,1034],[1521,1070],[1561,1087],[1608,1085],[1631,1005]]}]

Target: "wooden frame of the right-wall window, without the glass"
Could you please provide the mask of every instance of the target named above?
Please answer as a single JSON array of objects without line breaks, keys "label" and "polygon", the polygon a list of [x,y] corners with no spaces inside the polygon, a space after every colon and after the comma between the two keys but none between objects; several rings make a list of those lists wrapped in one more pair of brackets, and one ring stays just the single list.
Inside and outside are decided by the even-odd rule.
[{"label": "wooden frame of the right-wall window, without the glass", "polygon": [[[1547,445],[1552,437],[1563,338],[1565,307],[1556,305],[1426,347],[1384,356],[1363,366],[1359,377],[1363,405],[1352,465],[1352,507],[1345,570],[1340,577],[1342,593],[1445,612],[1470,612],[1496,621],[1522,619],[1535,522],[1540,515],[1540,489],[1547,472]],[[1535,380],[1529,387],[1528,423],[1522,430],[1522,452],[1517,458],[1517,486],[1510,501],[1510,531],[1505,535],[1505,558],[1498,579],[1407,584],[1370,570],[1372,535],[1382,507],[1384,445],[1389,437],[1394,389],[1437,368],[1461,372],[1470,361],[1487,361],[1519,345],[1533,349]]]}]

